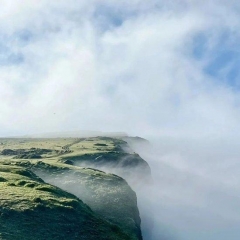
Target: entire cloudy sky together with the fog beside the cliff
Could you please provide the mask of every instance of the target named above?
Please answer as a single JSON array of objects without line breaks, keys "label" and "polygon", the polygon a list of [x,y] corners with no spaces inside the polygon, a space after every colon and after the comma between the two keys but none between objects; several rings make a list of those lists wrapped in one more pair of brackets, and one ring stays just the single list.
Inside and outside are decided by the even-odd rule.
[{"label": "entire cloudy sky together with the fog beside the cliff", "polygon": [[238,0],[0,6],[1,137],[146,137],[163,240],[239,239]]}]

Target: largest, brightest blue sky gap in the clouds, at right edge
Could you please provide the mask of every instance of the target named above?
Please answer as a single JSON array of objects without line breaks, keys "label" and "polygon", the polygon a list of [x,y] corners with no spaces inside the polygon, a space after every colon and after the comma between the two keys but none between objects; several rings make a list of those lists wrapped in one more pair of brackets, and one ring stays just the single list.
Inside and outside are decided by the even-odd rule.
[{"label": "largest, brightest blue sky gap in the clouds, at right edge", "polygon": [[204,73],[234,90],[239,88],[240,47],[238,36],[231,31],[220,32],[213,46],[209,46],[209,33],[200,33],[193,38],[193,57],[204,64]]}]

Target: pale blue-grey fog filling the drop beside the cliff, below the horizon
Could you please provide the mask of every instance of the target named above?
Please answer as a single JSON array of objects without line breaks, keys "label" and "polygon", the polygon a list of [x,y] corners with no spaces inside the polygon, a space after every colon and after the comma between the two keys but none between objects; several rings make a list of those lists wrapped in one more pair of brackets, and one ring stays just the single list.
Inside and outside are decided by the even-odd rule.
[{"label": "pale blue-grey fog filling the drop beside the cliff, below the horizon", "polygon": [[155,139],[134,146],[152,169],[144,196],[154,212],[154,240],[238,240],[240,149],[234,139]]}]

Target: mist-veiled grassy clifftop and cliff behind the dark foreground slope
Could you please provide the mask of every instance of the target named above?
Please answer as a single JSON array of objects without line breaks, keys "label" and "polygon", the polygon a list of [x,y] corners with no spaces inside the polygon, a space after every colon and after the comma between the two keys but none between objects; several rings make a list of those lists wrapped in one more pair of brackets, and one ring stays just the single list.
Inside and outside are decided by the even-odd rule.
[{"label": "mist-veiled grassy clifftop and cliff behind the dark foreground slope", "polygon": [[[47,182],[78,196],[94,212],[121,227],[126,234],[131,236],[131,239],[141,239],[136,195],[128,184],[112,174],[72,166],[83,164],[101,169],[101,166],[110,163],[113,168],[121,166],[121,169],[126,169],[127,171],[123,172],[123,175],[124,173],[126,175],[138,173],[137,167],[140,166],[144,170],[144,174],[149,175],[150,170],[147,163],[131,152],[126,142],[104,137],[0,140],[0,151],[4,149],[29,150],[31,148],[50,149],[51,151],[43,154],[41,161],[15,160],[13,158],[16,156],[5,155],[0,156],[0,162],[1,159],[2,162],[8,160],[9,163],[31,168]],[[125,151],[127,149],[128,153],[123,149]]]}]

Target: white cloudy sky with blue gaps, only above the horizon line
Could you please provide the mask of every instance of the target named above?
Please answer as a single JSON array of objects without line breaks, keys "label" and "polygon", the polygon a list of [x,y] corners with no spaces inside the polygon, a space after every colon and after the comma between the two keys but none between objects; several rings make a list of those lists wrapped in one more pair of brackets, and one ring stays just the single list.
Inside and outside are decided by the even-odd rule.
[{"label": "white cloudy sky with blue gaps, only above the horizon line", "polygon": [[2,136],[205,137],[239,128],[237,1],[1,6]]}]

